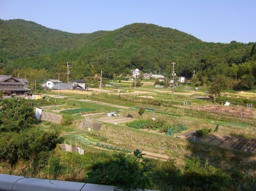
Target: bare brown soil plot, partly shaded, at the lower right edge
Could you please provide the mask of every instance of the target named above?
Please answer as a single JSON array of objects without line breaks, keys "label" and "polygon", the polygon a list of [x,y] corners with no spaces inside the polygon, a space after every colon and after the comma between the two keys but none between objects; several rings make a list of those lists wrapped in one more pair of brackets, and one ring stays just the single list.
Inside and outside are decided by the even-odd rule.
[{"label": "bare brown soil plot, partly shaded, at the lower right edge", "polygon": [[200,139],[200,142],[208,143],[225,148],[254,152],[256,153],[256,140],[246,140],[243,138],[232,137],[229,135],[209,135]]}]

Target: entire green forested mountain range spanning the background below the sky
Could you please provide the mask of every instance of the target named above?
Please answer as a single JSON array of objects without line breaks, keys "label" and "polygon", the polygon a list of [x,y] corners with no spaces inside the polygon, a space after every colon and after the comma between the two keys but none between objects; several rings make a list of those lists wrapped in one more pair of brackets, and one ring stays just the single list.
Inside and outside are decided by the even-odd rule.
[{"label": "entire green forested mountain range spanning the background below the sky", "polygon": [[56,78],[57,73],[65,74],[69,62],[71,78],[82,79],[100,70],[105,75],[130,74],[135,68],[170,76],[171,62],[176,62],[177,75],[191,78],[195,70],[195,80],[200,82],[225,74],[236,79],[249,75],[255,84],[255,43],[207,43],[176,29],[146,23],[75,34],[20,19],[0,20],[0,34],[1,74],[22,74],[26,68],[40,70],[38,78]]}]

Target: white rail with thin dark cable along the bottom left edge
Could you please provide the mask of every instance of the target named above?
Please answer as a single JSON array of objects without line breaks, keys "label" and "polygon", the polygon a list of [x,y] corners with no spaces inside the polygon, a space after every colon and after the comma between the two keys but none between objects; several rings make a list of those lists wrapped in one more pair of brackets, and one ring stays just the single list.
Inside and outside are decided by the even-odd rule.
[{"label": "white rail with thin dark cable along the bottom left edge", "polygon": [[[0,174],[1,191],[122,191],[117,186]],[[131,189],[133,190],[133,189]],[[141,189],[137,189],[142,191]],[[150,190],[147,190],[150,191]]]}]

